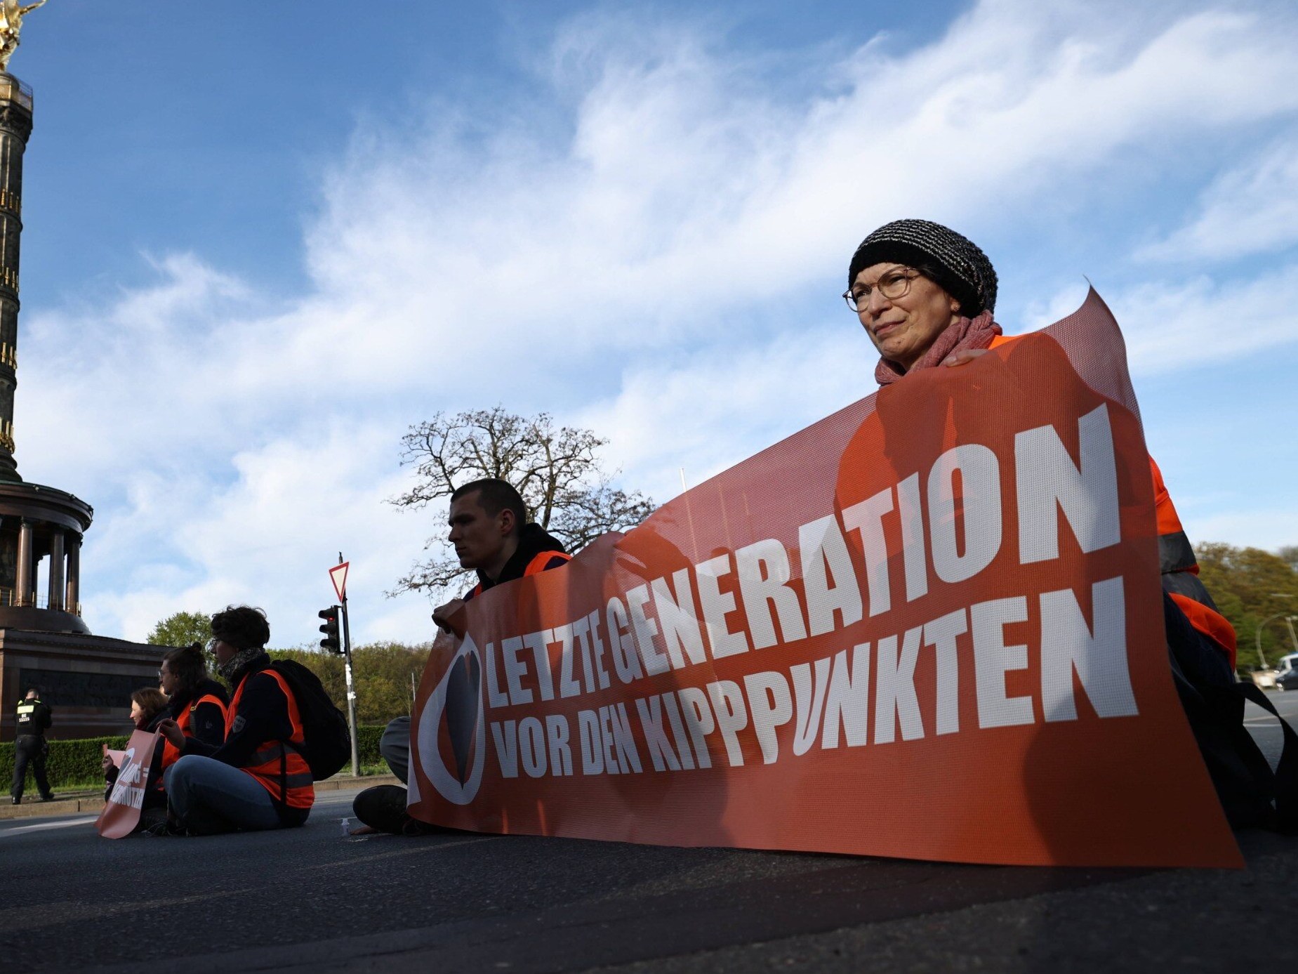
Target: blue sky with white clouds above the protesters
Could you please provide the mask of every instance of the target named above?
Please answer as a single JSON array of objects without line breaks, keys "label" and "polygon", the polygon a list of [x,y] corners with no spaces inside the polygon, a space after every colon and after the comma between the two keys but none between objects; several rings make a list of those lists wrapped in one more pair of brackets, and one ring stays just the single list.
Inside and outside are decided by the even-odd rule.
[{"label": "blue sky with white clouds above the protesters", "polygon": [[912,216],[1007,332],[1094,282],[1192,540],[1298,543],[1292,4],[51,0],[10,68],[17,457],[96,632],[314,640],[343,549],[353,635],[428,638],[408,425],[549,410],[666,500],[872,391],[839,293]]}]

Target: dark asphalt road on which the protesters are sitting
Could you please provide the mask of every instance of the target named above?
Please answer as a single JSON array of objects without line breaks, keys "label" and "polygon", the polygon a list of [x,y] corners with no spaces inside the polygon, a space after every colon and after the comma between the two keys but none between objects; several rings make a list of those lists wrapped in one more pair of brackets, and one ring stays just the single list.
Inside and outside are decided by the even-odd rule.
[{"label": "dark asphalt road on which the protesters are sitting", "polygon": [[[1298,693],[1273,699],[1298,714]],[[1266,725],[1250,730],[1266,745]],[[1241,835],[1243,871],[953,866],[472,834],[343,838],[350,797],[322,795],[305,829],[209,839],[106,842],[93,816],[0,822],[0,969],[1233,973],[1298,962],[1298,839]]]}]

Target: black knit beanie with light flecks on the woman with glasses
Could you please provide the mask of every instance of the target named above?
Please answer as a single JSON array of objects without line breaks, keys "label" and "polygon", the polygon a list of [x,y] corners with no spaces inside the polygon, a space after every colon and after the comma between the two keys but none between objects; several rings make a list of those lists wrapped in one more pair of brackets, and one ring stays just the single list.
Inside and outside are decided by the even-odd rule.
[{"label": "black knit beanie with light flecks on the woman with glasses", "polygon": [[929,277],[974,317],[996,310],[996,269],[968,238],[928,219],[894,219],[861,242],[848,268],[848,287],[875,264],[924,265]]}]

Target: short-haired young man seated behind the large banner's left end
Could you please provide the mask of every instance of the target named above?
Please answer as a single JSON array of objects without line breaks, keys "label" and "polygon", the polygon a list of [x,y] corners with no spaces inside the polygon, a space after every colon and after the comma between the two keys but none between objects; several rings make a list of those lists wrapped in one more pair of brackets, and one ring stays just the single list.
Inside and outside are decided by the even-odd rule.
[{"label": "short-haired young man seated behind the large banner's left end", "polygon": [[[456,549],[461,568],[478,573],[478,584],[462,599],[434,609],[432,621],[450,631],[470,599],[505,582],[561,568],[571,560],[563,544],[540,525],[527,519],[522,495],[506,481],[487,478],[458,487],[450,495],[447,540]],[[392,773],[406,782],[410,769],[410,718],[397,717],[383,730],[379,752]],[[395,784],[366,788],[352,810],[370,829],[384,832],[419,834],[423,825],[406,814],[406,790]]]}]

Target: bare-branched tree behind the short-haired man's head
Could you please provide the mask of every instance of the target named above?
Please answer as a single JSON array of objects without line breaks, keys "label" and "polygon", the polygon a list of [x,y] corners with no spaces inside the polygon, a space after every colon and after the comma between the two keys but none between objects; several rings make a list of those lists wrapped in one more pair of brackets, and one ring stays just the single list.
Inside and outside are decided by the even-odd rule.
[{"label": "bare-branched tree behind the short-haired man's head", "polygon": [[[536,523],[576,552],[601,534],[635,527],[654,510],[639,491],[613,486],[617,471],[606,473],[597,456],[606,443],[591,430],[556,429],[548,413],[514,416],[498,405],[437,413],[401,438],[401,465],[414,466],[417,479],[391,503],[418,510],[471,481],[498,477],[523,495]],[[424,591],[436,597],[470,574],[447,551],[445,532],[430,538],[424,551],[434,553],[413,565],[389,596]]]}]

